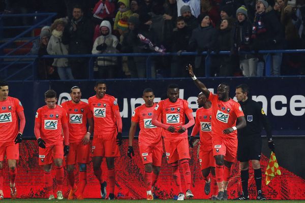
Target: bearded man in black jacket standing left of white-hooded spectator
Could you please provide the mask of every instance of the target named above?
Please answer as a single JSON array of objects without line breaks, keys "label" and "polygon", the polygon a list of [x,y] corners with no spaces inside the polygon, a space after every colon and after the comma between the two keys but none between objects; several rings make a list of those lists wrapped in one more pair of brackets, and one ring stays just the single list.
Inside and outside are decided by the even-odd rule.
[{"label": "bearded man in black jacket standing left of white-hooded spectator", "polygon": [[[73,18],[66,25],[62,42],[69,45],[69,54],[90,54],[92,50],[93,24],[83,16],[82,9],[73,7]],[[88,76],[88,58],[69,58],[72,74],[75,79]]]}]

